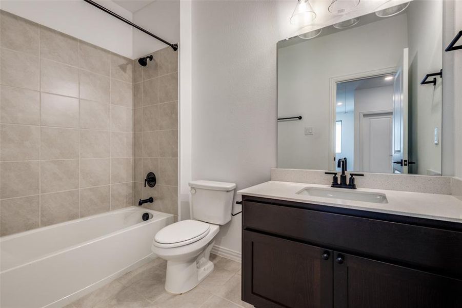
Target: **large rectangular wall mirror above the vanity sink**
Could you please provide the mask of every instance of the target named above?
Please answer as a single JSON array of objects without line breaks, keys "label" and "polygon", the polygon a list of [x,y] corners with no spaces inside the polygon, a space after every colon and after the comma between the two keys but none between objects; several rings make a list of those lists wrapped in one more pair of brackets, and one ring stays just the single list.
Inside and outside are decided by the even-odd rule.
[{"label": "large rectangular wall mirror above the vanity sink", "polygon": [[277,44],[277,167],[441,175],[443,3],[414,0]]}]

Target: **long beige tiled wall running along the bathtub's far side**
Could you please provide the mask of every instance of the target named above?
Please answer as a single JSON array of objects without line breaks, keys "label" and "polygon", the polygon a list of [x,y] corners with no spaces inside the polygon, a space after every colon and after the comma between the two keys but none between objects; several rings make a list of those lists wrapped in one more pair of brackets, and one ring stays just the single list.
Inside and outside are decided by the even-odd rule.
[{"label": "long beige tiled wall running along the bathtub's far side", "polygon": [[133,204],[132,60],[0,23],[0,234]]}]

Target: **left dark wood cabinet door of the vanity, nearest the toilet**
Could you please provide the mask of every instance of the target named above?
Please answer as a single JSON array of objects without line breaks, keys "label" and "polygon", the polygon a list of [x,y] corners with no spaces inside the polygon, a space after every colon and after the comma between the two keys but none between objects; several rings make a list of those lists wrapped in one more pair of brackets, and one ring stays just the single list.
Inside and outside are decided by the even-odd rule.
[{"label": "left dark wood cabinet door of the vanity, nearest the toilet", "polygon": [[332,308],[332,267],[332,251],[243,230],[242,297],[258,308]]}]

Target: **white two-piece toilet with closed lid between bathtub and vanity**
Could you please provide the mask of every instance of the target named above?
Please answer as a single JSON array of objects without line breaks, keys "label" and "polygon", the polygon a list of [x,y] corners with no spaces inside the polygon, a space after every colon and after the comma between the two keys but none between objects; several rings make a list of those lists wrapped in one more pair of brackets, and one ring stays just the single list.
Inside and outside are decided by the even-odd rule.
[{"label": "white two-piece toilet with closed lid between bathtub and vanity", "polygon": [[167,260],[165,290],[173,294],[188,292],[213,271],[210,251],[219,226],[231,220],[236,184],[200,180],[189,187],[191,219],[159,230],[151,246]]}]

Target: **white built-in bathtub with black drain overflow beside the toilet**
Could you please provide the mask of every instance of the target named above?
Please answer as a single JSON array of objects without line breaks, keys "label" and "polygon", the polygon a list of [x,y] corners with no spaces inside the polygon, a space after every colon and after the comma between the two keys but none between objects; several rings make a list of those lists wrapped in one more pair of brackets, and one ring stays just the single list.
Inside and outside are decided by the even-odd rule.
[{"label": "white built-in bathtub with black drain overflow beside the toilet", "polygon": [[154,235],[171,223],[132,206],[2,237],[0,306],[65,306],[155,258]]}]

